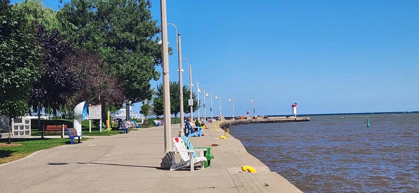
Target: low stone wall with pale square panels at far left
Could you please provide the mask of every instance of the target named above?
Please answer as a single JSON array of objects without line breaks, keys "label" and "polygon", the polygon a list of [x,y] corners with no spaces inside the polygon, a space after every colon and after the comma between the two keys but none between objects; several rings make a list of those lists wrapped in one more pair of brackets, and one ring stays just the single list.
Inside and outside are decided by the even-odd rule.
[{"label": "low stone wall with pale square panels at far left", "polygon": [[[9,119],[0,116],[0,138],[9,136]],[[28,137],[31,136],[31,119],[19,117],[13,119],[11,137]]]}]

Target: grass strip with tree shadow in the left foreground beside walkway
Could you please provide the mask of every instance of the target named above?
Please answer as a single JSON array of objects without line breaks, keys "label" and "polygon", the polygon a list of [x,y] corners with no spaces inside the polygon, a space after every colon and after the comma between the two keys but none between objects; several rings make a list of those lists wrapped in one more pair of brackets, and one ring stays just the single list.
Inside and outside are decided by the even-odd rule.
[{"label": "grass strip with tree shadow in the left foreground beside walkway", "polygon": [[[89,140],[91,138],[82,138],[81,140]],[[0,139],[0,143],[6,143],[6,139]],[[59,145],[65,145],[70,143],[68,138],[57,138],[57,139],[41,139],[41,138],[13,138],[13,143],[20,143],[19,146],[11,147],[0,147],[0,164],[8,163],[14,160],[21,159],[28,156],[29,154],[49,149],[51,147],[57,147]]]}]

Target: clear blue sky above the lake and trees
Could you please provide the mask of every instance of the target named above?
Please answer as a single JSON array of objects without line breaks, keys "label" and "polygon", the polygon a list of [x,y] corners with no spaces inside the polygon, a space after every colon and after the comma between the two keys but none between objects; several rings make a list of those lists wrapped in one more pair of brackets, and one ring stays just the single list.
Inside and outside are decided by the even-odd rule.
[{"label": "clear blue sky above the lake and trees", "polygon": [[[57,9],[56,0],[45,3]],[[160,1],[152,3],[160,20]],[[291,114],[292,102],[298,114],[418,111],[418,7],[413,0],[168,0],[167,20],[182,35],[192,76],[222,96],[223,116],[232,114],[230,95],[235,115],[253,113],[252,97],[258,115]],[[168,37],[176,48],[173,26]],[[174,52],[173,81],[177,60]],[[215,116],[219,101],[212,102]]]}]

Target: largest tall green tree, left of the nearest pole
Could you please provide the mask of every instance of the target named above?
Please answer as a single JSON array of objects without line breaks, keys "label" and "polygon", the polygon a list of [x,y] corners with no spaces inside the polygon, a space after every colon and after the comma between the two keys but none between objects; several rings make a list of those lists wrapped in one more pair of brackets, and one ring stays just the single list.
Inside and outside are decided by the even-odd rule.
[{"label": "largest tall green tree, left of the nearest pole", "polygon": [[151,99],[150,80],[160,77],[161,46],[153,40],[160,28],[150,8],[149,0],[71,0],[57,13],[76,48],[101,56],[132,103]]}]

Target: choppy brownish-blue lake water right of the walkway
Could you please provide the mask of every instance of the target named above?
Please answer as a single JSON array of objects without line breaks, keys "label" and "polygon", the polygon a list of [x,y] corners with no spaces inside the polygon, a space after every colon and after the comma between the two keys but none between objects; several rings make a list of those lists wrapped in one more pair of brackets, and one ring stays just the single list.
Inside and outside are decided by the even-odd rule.
[{"label": "choppy brownish-blue lake water right of the walkway", "polygon": [[304,192],[419,192],[419,113],[312,116],[230,134]]}]

